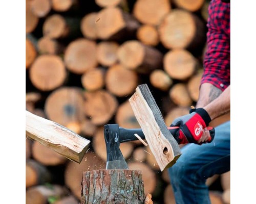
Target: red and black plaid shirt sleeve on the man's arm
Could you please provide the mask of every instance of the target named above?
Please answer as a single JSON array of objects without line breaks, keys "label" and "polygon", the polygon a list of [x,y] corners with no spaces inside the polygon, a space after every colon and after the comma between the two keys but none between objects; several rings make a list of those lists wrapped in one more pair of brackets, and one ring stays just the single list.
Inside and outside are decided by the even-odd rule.
[{"label": "red and black plaid shirt sleeve on the man's arm", "polygon": [[230,85],[230,3],[211,0],[208,8],[207,49],[201,84],[224,91]]}]

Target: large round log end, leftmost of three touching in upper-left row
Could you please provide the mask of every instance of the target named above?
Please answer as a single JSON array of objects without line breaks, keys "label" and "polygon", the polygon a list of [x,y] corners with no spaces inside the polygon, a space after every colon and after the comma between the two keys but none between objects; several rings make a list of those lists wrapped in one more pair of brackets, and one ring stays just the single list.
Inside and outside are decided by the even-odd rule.
[{"label": "large round log end, leftmost of three touching in upper-left row", "polygon": [[96,47],[95,41],[84,38],[71,41],[64,55],[65,65],[76,74],[82,74],[97,67]]}]

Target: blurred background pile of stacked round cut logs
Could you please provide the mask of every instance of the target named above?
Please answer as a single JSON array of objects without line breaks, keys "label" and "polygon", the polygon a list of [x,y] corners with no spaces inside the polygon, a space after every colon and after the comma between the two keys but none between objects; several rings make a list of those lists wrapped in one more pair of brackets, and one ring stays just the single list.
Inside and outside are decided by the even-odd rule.
[{"label": "blurred background pile of stacked round cut logs", "polygon": [[[188,113],[199,95],[208,5],[26,0],[26,109],[92,141],[76,164],[26,138],[26,203],[81,201],[82,173],[105,168],[103,125],[140,128],[128,101],[139,84],[152,90],[166,125]],[[120,149],[129,168],[142,171],[154,203],[175,203],[150,148],[134,141]],[[207,182],[212,203],[230,203],[230,172]]]}]

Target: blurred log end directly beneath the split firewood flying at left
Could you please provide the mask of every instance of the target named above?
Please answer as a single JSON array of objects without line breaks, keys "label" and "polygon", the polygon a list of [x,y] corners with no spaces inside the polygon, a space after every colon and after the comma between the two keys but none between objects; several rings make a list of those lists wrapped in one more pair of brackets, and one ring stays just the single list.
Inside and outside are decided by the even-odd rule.
[{"label": "blurred log end directly beneath the split firewood flying at left", "polygon": [[32,145],[32,155],[36,161],[46,166],[65,164],[68,160],[66,157],[37,141]]}]

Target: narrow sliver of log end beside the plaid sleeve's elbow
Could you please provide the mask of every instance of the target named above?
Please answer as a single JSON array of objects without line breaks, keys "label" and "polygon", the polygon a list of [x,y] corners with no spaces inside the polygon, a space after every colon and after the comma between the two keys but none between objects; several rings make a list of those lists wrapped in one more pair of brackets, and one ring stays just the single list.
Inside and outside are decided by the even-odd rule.
[{"label": "narrow sliver of log end beside the plaid sleeve's elbow", "polygon": [[193,75],[187,82],[187,90],[189,96],[193,101],[198,101],[199,98],[199,90],[200,90],[200,82],[202,79],[203,70],[198,70],[198,72]]}]

